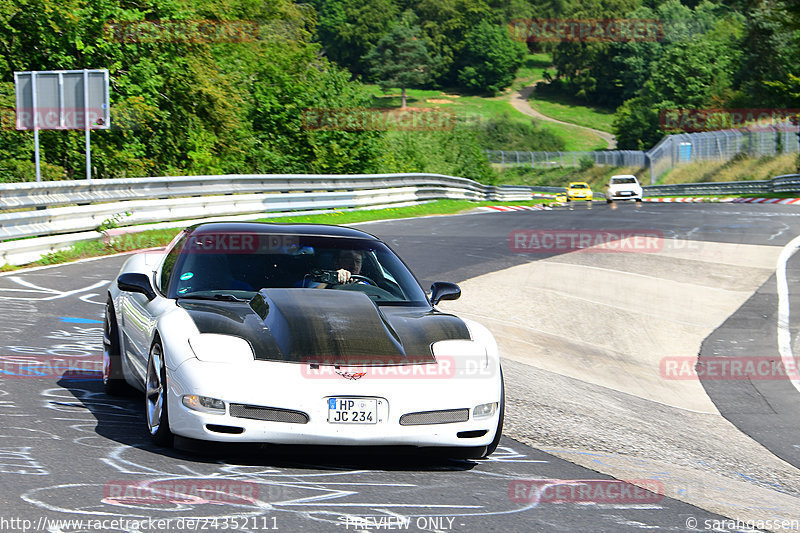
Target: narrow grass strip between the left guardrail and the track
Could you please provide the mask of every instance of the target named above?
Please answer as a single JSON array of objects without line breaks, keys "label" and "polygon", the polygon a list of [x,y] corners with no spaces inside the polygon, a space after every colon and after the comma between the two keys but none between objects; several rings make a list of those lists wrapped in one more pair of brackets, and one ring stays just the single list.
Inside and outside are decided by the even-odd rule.
[{"label": "narrow grass strip between the left guardrail and the track", "polygon": [[[527,202],[514,202],[515,205],[534,205],[547,203],[548,200],[531,200]],[[483,205],[498,205],[500,202],[471,202],[469,200],[436,200],[425,204],[391,207],[374,210],[349,210],[336,211],[319,215],[297,215],[272,217],[261,219],[260,222],[273,222],[276,224],[356,224],[370,220],[388,220],[395,218],[421,217],[431,215],[448,215],[469,211]],[[177,235],[180,229],[146,230],[136,233],[125,233],[119,236],[97,241],[76,243],[72,247],[53,252],[40,260],[27,265],[12,266],[2,265],[0,271],[7,272],[35,266],[55,265],[86,259],[102,257],[122,252],[131,252],[145,248],[159,248],[166,246]]]}]

